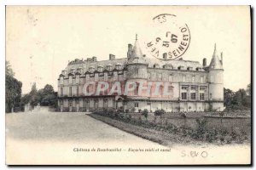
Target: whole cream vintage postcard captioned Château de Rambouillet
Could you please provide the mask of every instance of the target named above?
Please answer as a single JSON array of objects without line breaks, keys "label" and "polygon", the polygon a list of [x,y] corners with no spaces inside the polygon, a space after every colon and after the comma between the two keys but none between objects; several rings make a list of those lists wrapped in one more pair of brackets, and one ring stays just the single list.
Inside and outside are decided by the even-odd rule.
[{"label": "whole cream vintage postcard captioned Ch\u00e2teau de Rambouillet", "polygon": [[249,6],[7,6],[8,165],[250,165]]}]

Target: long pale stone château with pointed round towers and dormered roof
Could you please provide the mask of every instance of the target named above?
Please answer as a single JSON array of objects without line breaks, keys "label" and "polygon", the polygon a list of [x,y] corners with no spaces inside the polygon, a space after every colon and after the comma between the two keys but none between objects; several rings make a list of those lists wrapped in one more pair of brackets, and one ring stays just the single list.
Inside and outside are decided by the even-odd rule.
[{"label": "long pale stone ch\u00e2teau with pointed round towers and dormered roof", "polygon": [[[116,59],[109,54],[108,60],[98,61],[92,57],[69,62],[58,78],[58,107],[59,111],[96,111],[103,108],[124,111],[223,111],[223,73],[223,57],[221,54],[221,59],[218,58],[216,45],[209,65],[207,59],[203,59],[202,65],[198,61],[183,59],[158,59],[155,62],[143,55],[136,38],[134,46],[128,44],[125,58]],[[95,82],[96,86],[98,82],[108,82],[109,89],[98,95],[85,95],[86,82]],[[138,91],[143,89],[137,86],[128,94],[109,94],[114,82],[120,82],[122,90],[126,82],[143,82],[150,90],[140,94]],[[155,82],[162,84],[157,87]],[[163,84],[167,84],[167,88],[164,89]],[[88,86],[89,91],[95,88]],[[156,88],[160,93],[154,95]]]}]

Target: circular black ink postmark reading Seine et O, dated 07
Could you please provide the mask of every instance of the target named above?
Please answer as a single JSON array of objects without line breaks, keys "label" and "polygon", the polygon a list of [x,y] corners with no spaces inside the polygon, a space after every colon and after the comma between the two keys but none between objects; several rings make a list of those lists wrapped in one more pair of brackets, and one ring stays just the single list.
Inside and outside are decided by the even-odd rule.
[{"label": "circular black ink postmark reading Seine et O, dated 07", "polygon": [[148,53],[157,59],[179,59],[189,48],[189,26],[174,14],[159,14],[153,21],[154,32],[146,42]]}]

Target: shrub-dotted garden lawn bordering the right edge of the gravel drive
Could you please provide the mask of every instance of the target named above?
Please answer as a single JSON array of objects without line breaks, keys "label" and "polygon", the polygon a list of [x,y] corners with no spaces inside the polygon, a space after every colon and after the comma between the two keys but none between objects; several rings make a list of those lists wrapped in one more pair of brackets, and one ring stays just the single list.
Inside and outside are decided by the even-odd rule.
[{"label": "shrub-dotted garden lawn bordering the right edge of the gravel drive", "polygon": [[160,144],[203,142],[213,144],[250,143],[250,119],[168,117],[117,111],[96,111],[91,116],[113,127]]}]

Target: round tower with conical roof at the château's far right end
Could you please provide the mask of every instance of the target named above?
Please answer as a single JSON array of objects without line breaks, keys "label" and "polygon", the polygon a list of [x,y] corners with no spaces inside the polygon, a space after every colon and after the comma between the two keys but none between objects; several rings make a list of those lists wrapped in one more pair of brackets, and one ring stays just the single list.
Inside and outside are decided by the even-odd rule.
[{"label": "round tower with conical roof at the ch\u00e2teau's far right end", "polygon": [[208,82],[209,82],[209,108],[212,111],[224,110],[224,77],[223,77],[223,57],[218,58],[216,44],[212,60],[208,67]]}]

